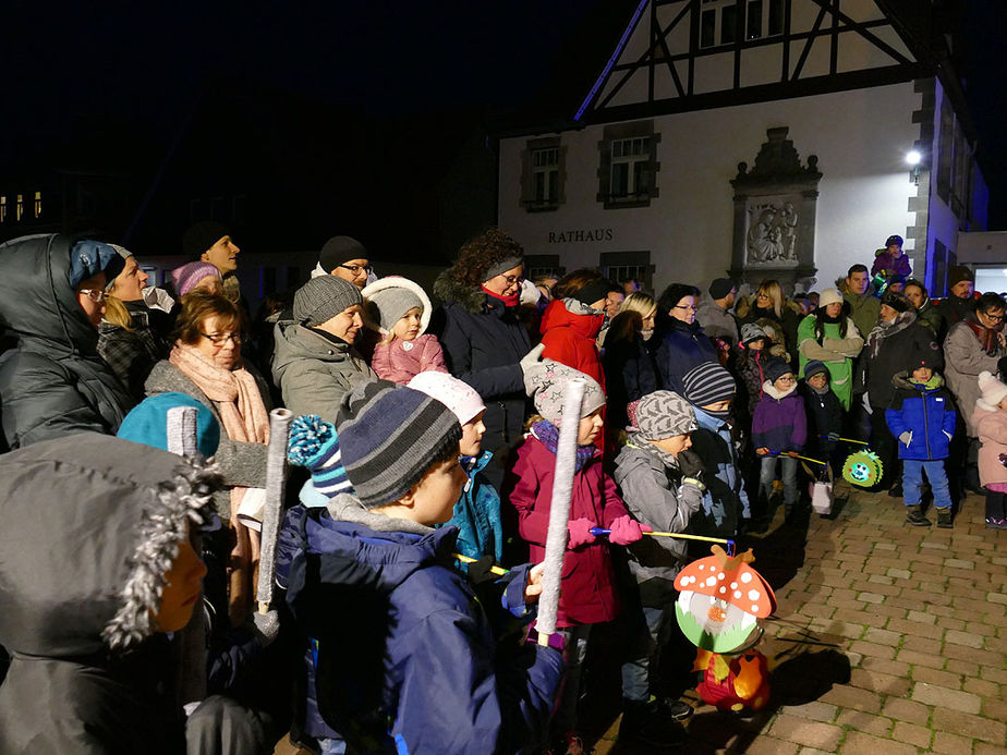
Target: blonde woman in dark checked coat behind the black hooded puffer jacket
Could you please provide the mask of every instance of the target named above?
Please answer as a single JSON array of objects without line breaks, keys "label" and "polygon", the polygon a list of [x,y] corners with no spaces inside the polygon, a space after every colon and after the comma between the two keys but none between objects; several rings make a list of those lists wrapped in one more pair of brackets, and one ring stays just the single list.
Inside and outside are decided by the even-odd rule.
[{"label": "blonde woman in dark checked coat behind the black hooded puffer jacket", "polygon": [[136,264],[132,252],[114,244],[112,247],[125,259],[125,265],[106,287],[108,297],[105,318],[98,326],[98,354],[133,400],[142,401],[144,382],[154,365],[168,356],[168,344],[154,329],[150,312],[144,304],[144,287],[149,277]]}]

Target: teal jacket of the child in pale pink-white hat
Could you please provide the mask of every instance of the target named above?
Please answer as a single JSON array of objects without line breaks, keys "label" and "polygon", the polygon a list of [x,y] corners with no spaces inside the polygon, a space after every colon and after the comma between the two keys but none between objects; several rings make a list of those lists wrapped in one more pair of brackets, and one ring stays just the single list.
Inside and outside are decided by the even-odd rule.
[{"label": "teal jacket of the child in pale pink-white hat", "polygon": [[[499,562],[504,552],[504,525],[500,523],[500,495],[482,474],[493,460],[492,451],[477,456],[462,456],[462,468],[469,482],[454,503],[454,513],[448,525],[458,527],[456,549],[462,556],[480,559],[492,556]],[[462,571],[468,571],[460,564]]]}]

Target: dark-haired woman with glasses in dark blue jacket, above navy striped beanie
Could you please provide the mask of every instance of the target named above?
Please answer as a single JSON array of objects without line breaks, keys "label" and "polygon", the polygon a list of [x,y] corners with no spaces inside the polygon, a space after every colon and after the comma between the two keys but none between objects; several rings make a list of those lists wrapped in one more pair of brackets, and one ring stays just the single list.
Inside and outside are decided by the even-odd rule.
[{"label": "dark-haired woman with glasses in dark blue jacket, above navy striped beanie", "polygon": [[662,386],[679,395],[684,390],[686,373],[704,362],[718,362],[716,350],[695,319],[699,293],[694,285],[672,283],[657,300],[657,373]]}]

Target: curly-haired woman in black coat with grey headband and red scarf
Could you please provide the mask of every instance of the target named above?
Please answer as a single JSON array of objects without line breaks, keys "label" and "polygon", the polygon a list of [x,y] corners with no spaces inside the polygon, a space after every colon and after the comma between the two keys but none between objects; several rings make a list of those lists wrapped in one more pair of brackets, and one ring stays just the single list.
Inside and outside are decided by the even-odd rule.
[{"label": "curly-haired woman in black coat with grey headband and red scarf", "polygon": [[[466,242],[454,265],[434,283],[444,302],[432,324],[451,374],[478,391],[486,403],[483,449],[496,451],[521,438],[524,426],[524,373],[521,360],[531,349],[518,320],[518,291],[524,251],[497,229]],[[486,473],[499,488],[504,467]]]}]

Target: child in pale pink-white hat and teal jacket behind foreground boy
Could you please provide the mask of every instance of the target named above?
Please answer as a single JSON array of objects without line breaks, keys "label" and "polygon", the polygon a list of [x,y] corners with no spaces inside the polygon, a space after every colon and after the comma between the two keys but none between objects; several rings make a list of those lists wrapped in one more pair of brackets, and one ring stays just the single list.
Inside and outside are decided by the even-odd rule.
[{"label": "child in pale pink-white hat and teal jacket behind foreground boy", "polygon": [[[474,388],[447,373],[420,373],[409,381],[409,387],[423,391],[450,409],[462,428],[460,461],[469,479],[448,522],[458,527],[458,552],[471,559],[488,556],[499,563],[504,550],[500,496],[483,474],[493,460],[493,452],[480,451],[486,431],[483,400]],[[459,562],[459,568],[468,572],[463,562]]]}]

